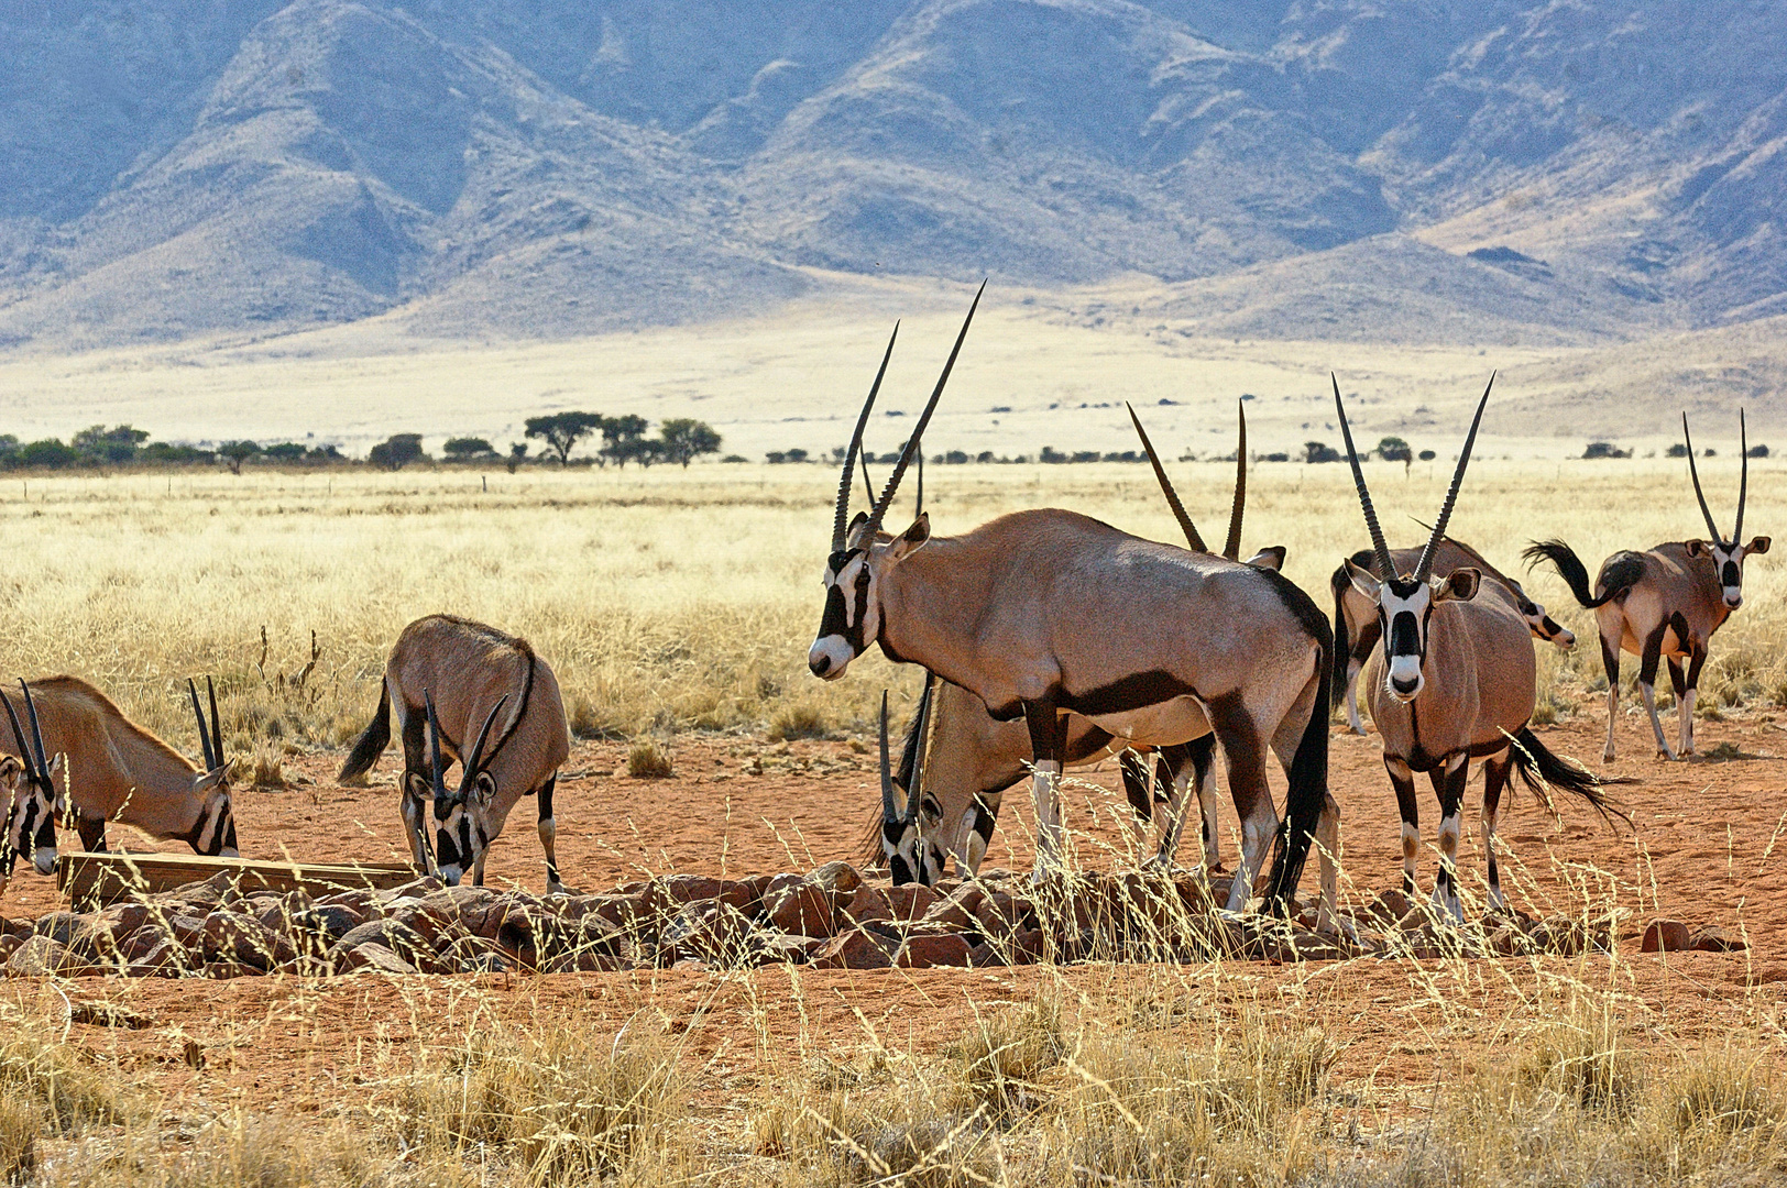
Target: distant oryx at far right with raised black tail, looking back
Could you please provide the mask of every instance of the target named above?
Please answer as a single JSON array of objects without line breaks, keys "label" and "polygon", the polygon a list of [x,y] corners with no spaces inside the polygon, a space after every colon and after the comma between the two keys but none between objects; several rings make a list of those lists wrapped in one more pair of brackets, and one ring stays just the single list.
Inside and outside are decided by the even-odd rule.
[{"label": "distant oryx at far right with raised black tail, looking back", "polygon": [[[1549,561],[1569,584],[1576,602],[1594,611],[1601,629],[1601,663],[1607,666],[1607,749],[1601,757],[1614,761],[1614,720],[1619,711],[1619,652],[1639,657],[1639,697],[1651,716],[1658,757],[1674,759],[1694,754],[1694,699],[1699,695],[1699,670],[1707,663],[1707,643],[1732,611],[1744,604],[1744,557],[1769,550],[1769,538],[1757,536],[1746,545],[1744,497],[1749,493],[1749,432],[1744,413],[1737,413],[1739,452],[1744,457],[1742,477],[1737,481],[1737,523],[1732,540],[1719,534],[1699,489],[1699,470],[1694,466],[1694,439],[1687,432],[1687,413],[1682,414],[1682,438],[1687,441],[1687,470],[1694,479],[1694,497],[1699,515],[1707,518],[1712,540],[1671,541],[1648,552],[1615,552],[1601,563],[1589,590],[1589,570],[1560,540],[1539,541],[1526,550],[1526,559]],[[1669,659],[1669,682],[1676,691],[1680,715],[1680,750],[1669,749],[1664,724],[1657,718],[1657,661]],[[1682,661],[1687,672],[1682,672]]]}]

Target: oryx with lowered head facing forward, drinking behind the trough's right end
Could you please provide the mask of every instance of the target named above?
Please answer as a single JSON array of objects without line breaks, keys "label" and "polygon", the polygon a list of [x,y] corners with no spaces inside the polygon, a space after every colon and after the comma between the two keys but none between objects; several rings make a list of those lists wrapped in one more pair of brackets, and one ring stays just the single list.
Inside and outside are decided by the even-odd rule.
[{"label": "oryx with lowered head facing forward, drinking behind the trough's right end", "polygon": [[[540,849],[547,854],[547,891],[563,893],[554,840],[552,790],[570,757],[570,727],[558,677],[525,640],[452,615],[429,615],[404,627],[384,663],[379,707],[354,743],[338,781],[365,775],[391,741],[391,707],[404,738],[402,815],[416,868],[454,886],[472,870],[484,886],[484,858],[502,834],[509,809],[522,797],[540,797]],[[486,749],[499,711],[509,707],[502,729]],[[434,743],[424,734],[438,707]],[[479,729],[482,724],[482,729]],[[465,750],[466,738],[477,745]],[[459,741],[454,741],[454,740]],[[459,790],[447,791],[440,749],[463,763]],[[434,804],[434,852],[425,832],[427,804]],[[436,861],[438,859],[438,861]]]}]

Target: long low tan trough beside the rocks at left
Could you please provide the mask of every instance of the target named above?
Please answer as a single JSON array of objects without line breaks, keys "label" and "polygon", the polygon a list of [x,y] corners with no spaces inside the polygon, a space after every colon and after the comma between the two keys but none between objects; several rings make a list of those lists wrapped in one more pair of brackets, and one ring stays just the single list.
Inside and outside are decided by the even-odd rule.
[{"label": "long low tan trough beside the rocks at left", "polygon": [[352,890],[384,890],[416,877],[409,865],[250,861],[245,858],[200,858],[198,854],[88,854],[64,852],[55,859],[55,886],[77,909],[104,908],[138,895],[172,891],[229,874],[243,895],[256,891],[309,891],[334,895]]}]

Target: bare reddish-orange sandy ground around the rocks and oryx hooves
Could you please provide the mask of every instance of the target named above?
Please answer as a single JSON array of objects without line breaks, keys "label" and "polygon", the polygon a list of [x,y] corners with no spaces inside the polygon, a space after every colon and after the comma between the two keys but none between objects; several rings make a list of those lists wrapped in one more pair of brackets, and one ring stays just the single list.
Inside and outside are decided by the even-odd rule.
[{"label": "bare reddish-orange sandy ground around the rocks and oryx hooves", "polygon": [[[1542,729],[1544,741],[1599,768],[1598,715]],[[868,1029],[897,1049],[931,1050],[961,1034],[972,1011],[1022,1002],[1038,986],[1065,988],[1090,1002],[1129,1000],[1144,986],[1156,997],[1188,990],[1203,1008],[1258,1002],[1285,1011],[1290,1022],[1324,1025],[1342,1045],[1337,1074],[1367,1083],[1374,1100],[1417,1102],[1421,1086],[1469,1065],[1498,1034],[1521,1025],[1521,1002],[1555,993],[1571,979],[1617,986],[1640,1038],[1660,1047],[1744,1036],[1780,1052],[1782,1002],[1787,999],[1787,734],[1769,715],[1705,722],[1699,743],[1719,759],[1667,765],[1651,757],[1649,727],[1639,716],[1623,722],[1623,759],[1610,774],[1635,777],[1615,788],[1633,813],[1635,831],[1605,825],[1592,811],[1564,804],[1553,820],[1524,793],[1503,816],[1501,836],[1524,861],[1526,904],[1549,915],[1569,902],[1567,884],[1612,877],[1619,902],[1633,911],[1617,961],[1607,956],[1567,961],[1499,959],[1406,963],[1358,959],[1319,966],[1276,966],[1229,961],[1221,970],[1181,970],[1179,983],[1158,968],[1074,966],[1067,970],[883,970],[817,972],[770,968],[751,975],[701,970],[575,974],[552,977],[386,979],[357,975],[327,981],[256,977],[231,983],[163,979],[80,979],[75,995],[107,997],[147,1013],[141,1031],[84,1024],[71,1038],[102,1059],[116,1059],[132,1079],[154,1084],[170,1100],[191,1108],[247,1104],[291,1111],[332,1109],[365,1097],[356,1084],[377,1072],[377,1054],[399,1050],[416,1027],[449,1038],[447,1018],[466,991],[518,1022],[572,1013],[597,1031],[618,1031],[640,1006],[652,1006],[672,1033],[684,1033],[690,1050],[706,1061],[697,1102],[713,1118],[734,1117],[756,1090],[772,1084],[788,1061],[826,1050],[854,1050]],[[625,777],[625,749],[581,743],[559,781],[559,861],[566,881],[584,891],[672,870],[729,875],[806,870],[835,858],[854,858],[877,804],[874,754],[849,743],[756,740],[679,741],[672,779]],[[343,790],[332,781],[336,754],[289,761],[313,784],[238,795],[243,852],[250,858],[341,861],[402,858],[402,831],[393,795],[397,752],[375,768],[372,788]],[[1333,790],[1344,813],[1349,895],[1399,884],[1399,840],[1394,797],[1383,775],[1376,738],[1333,738]],[[618,774],[617,774],[618,772]],[[1115,772],[1086,779],[1110,790]],[[1472,784],[1472,806],[1480,782]],[[1437,809],[1422,784],[1428,840]],[[1028,868],[1028,795],[1006,797],[990,866]],[[1095,840],[1122,836],[1120,797],[1079,791],[1069,824]],[[533,804],[522,802],[497,841],[490,863],[493,884],[543,888]],[[1015,827],[1013,827],[1015,825]],[[1224,856],[1233,861],[1224,806]],[[120,841],[139,838],[114,827]],[[172,849],[172,847],[170,847]],[[1112,865],[1110,854],[1081,843],[1086,865]],[[1467,825],[1462,868],[1481,879],[1474,824]],[[1596,874],[1605,872],[1605,874]],[[1433,858],[1422,858],[1422,883],[1431,886]],[[1313,888],[1313,863],[1305,886]],[[1515,897],[1519,902],[1523,897]],[[20,874],[5,893],[11,916],[57,906],[46,879]],[[1640,956],[1637,929],[1655,915],[1692,925],[1717,924],[1746,936],[1753,949],[1735,954]],[[59,1013],[46,986],[11,983],[5,999]],[[1442,1009],[1440,1002],[1453,1004]],[[1456,1009],[1456,1008],[1465,1009]],[[1210,1018],[1181,1024],[1196,1042]],[[182,1059],[186,1040],[207,1052],[193,1070]],[[1371,1097],[1369,1095],[1369,1097]]]}]

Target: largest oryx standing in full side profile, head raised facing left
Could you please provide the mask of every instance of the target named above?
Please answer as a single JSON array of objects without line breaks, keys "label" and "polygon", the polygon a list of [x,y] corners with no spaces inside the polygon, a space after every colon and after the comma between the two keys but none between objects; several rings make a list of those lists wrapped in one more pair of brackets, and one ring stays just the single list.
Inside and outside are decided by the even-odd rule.
[{"label": "largest oryx standing in full side profile, head raised facing left", "polygon": [[[1022,715],[1035,763],[1036,879],[1061,850],[1054,784],[1069,715],[1158,747],[1213,729],[1244,834],[1228,906],[1247,904],[1276,838],[1265,900],[1285,911],[1328,793],[1333,638],[1308,595],[1271,570],[1156,545],[1058,509],[1020,511],[936,540],[919,515],[899,536],[877,540],[972,320],[970,307],[881,498],[851,522],[851,468],[870,407],[863,406],[845,450],[826,609],[808,668],[835,681],[879,643],[888,659],[922,665],[969,690],[995,718]],[[1267,749],[1290,781],[1283,829],[1267,786]]]}]

